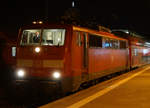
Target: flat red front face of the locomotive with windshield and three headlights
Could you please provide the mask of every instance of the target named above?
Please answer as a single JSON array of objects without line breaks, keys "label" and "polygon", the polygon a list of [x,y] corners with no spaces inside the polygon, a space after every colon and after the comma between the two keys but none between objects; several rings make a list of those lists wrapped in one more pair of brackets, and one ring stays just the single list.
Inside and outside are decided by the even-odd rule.
[{"label": "flat red front face of the locomotive with windshield and three headlights", "polygon": [[53,93],[56,90],[52,88],[60,88],[65,76],[66,28],[26,27],[18,39],[16,89]]}]

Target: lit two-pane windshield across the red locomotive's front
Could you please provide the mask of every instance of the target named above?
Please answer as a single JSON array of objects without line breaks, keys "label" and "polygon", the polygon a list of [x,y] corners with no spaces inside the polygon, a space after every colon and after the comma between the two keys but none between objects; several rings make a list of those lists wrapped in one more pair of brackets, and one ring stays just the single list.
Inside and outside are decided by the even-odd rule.
[{"label": "lit two-pane windshield across the red locomotive's front", "polygon": [[26,29],[21,36],[21,45],[63,46],[65,29]]}]

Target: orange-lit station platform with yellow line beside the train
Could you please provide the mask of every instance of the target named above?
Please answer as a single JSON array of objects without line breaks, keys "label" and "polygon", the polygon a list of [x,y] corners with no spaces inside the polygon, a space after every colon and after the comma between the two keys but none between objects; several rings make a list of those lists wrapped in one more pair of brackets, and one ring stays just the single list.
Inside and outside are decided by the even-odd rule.
[{"label": "orange-lit station platform with yellow line beside the train", "polygon": [[150,108],[150,65],[39,108]]}]

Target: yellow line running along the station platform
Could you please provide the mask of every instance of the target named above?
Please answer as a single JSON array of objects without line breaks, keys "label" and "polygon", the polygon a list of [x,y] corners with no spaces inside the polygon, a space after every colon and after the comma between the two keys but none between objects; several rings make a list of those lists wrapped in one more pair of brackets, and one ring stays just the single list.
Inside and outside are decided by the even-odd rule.
[{"label": "yellow line running along the station platform", "polygon": [[75,104],[72,104],[72,105],[68,106],[67,108],[80,108],[83,105],[89,103],[90,101],[92,101],[92,100],[94,100],[94,99],[96,99],[96,98],[106,94],[107,92],[113,90],[114,88],[118,87],[119,85],[121,85],[121,84],[127,82],[128,80],[136,77],[137,75],[140,75],[141,73],[145,72],[148,69],[150,69],[150,67],[148,67],[148,68],[146,68],[144,70],[141,70],[138,73],[135,73],[135,74],[131,75],[130,77],[128,77],[126,79],[123,79],[123,80],[121,80],[121,81],[119,81],[119,82],[117,82],[117,83],[115,83],[115,84],[113,84],[113,85],[111,85],[111,86],[109,86],[109,87],[107,87],[107,88],[105,88],[105,89],[103,89],[103,90],[101,90],[101,91],[99,91],[99,92],[97,92],[97,93],[95,93],[95,94],[85,98],[85,99],[82,99],[79,102],[76,102]]}]

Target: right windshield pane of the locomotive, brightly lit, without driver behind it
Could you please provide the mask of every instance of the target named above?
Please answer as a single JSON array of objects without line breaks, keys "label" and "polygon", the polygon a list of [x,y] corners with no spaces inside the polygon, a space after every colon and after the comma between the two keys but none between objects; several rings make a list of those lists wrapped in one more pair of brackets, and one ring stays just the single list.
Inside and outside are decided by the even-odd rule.
[{"label": "right windshield pane of the locomotive, brightly lit, without driver behind it", "polygon": [[42,35],[42,45],[64,45],[65,29],[44,29]]}]

